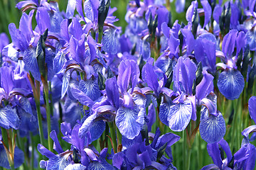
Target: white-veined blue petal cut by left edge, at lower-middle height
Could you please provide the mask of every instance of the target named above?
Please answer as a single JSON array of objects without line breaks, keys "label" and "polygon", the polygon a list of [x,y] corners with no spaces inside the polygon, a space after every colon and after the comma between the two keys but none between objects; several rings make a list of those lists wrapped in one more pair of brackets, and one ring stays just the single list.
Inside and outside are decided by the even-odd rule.
[{"label": "white-veined blue petal cut by left edge, at lower-middle height", "polygon": [[0,126],[5,129],[18,129],[20,125],[20,119],[16,113],[16,110],[7,105],[4,108],[0,108]]}]

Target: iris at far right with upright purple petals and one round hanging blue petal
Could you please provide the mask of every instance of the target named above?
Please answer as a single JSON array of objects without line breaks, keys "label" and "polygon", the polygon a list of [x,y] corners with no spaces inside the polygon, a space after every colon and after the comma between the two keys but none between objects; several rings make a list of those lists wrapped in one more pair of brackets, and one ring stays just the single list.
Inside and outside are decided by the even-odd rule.
[{"label": "iris at far right with upright purple petals and one round hanging blue petal", "polygon": [[[230,30],[223,39],[222,52],[218,52],[223,62],[225,62],[225,64],[217,64],[217,66],[223,67],[224,69],[218,77],[218,89],[225,98],[230,100],[239,98],[245,86],[244,78],[235,65],[238,60],[238,53],[240,50],[245,49],[245,43],[245,33],[238,33],[238,30]],[[233,57],[235,47],[237,48],[237,53]]]}]

